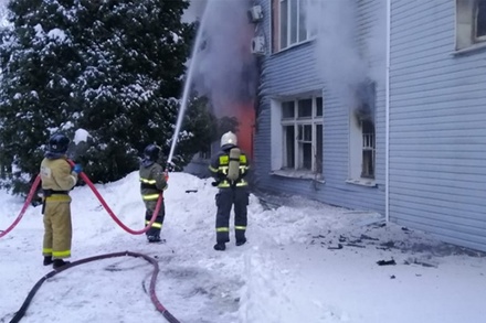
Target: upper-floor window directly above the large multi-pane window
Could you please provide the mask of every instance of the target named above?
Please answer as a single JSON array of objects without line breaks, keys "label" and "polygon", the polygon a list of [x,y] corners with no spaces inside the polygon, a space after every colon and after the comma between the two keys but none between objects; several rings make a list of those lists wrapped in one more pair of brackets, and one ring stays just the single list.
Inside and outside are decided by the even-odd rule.
[{"label": "upper-floor window directly above the large multi-pane window", "polygon": [[274,51],[287,49],[309,39],[307,31],[308,0],[273,0]]}]

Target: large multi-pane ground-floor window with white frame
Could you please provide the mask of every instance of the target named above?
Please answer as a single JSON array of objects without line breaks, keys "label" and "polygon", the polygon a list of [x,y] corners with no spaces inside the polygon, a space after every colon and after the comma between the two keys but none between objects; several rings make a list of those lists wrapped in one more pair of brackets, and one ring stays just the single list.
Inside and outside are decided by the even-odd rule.
[{"label": "large multi-pane ground-floor window with white frame", "polygon": [[281,103],[283,159],[281,168],[323,172],[323,98]]}]

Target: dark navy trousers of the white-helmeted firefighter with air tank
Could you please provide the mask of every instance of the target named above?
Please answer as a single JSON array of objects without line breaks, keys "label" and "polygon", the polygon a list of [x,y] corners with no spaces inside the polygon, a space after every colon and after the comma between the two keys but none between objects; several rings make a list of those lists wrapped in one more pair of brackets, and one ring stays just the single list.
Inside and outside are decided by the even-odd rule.
[{"label": "dark navy trousers of the white-helmeted firefighter with air tank", "polygon": [[234,233],[236,241],[245,240],[247,224],[249,192],[246,187],[221,189],[215,196],[216,213],[216,243],[230,241],[230,215],[234,205]]}]

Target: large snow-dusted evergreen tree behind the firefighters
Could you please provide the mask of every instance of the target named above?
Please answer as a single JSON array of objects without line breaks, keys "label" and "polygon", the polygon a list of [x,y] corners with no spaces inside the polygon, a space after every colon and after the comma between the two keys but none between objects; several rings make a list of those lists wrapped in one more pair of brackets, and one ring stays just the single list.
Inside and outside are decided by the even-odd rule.
[{"label": "large snow-dusted evergreen tree behind the firefighters", "polygon": [[[11,28],[1,32],[0,46],[2,173],[13,176],[17,187],[29,183],[49,137],[56,131],[72,137],[78,128],[89,133],[89,147],[73,158],[94,182],[136,170],[148,143],[168,152],[194,36],[194,26],[181,22],[188,4],[11,1]],[[204,140],[197,128],[208,123],[198,118],[211,118],[193,101],[173,158],[180,163]],[[12,162],[18,172],[3,171]]]}]

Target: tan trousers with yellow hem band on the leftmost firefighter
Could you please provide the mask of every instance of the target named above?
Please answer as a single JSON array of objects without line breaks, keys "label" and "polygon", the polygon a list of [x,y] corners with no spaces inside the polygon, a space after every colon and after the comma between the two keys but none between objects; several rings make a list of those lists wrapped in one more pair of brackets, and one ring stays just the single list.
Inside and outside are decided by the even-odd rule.
[{"label": "tan trousers with yellow hem band on the leftmost firefighter", "polygon": [[54,259],[71,257],[73,228],[70,202],[44,202],[43,256]]}]

